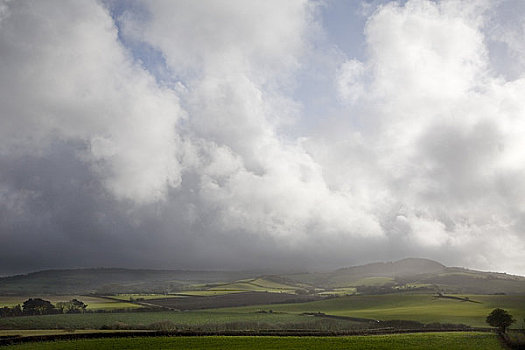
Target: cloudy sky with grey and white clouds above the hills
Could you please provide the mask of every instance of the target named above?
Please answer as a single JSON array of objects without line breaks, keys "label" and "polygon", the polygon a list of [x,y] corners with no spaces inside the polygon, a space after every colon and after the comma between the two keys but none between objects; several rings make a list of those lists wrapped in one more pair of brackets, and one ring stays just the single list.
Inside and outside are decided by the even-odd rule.
[{"label": "cloudy sky with grey and white clouds above the hills", "polygon": [[0,0],[0,274],[525,275],[525,2]]}]

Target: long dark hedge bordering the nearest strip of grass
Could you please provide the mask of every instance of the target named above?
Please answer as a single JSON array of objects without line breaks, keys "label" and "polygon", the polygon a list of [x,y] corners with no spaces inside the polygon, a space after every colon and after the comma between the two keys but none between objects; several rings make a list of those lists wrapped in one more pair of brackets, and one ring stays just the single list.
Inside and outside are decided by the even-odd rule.
[{"label": "long dark hedge bordering the nearest strip of grass", "polygon": [[0,346],[14,345],[29,342],[96,339],[96,338],[129,338],[129,337],[205,337],[205,336],[274,336],[274,337],[343,337],[343,336],[372,336],[407,333],[465,333],[465,332],[494,332],[491,328],[471,329],[366,329],[349,331],[311,331],[311,330],[260,330],[260,331],[137,331],[112,333],[70,333],[35,336],[3,336],[0,337]]}]

